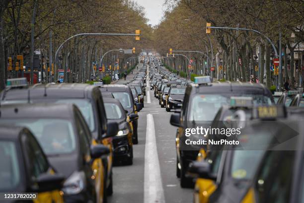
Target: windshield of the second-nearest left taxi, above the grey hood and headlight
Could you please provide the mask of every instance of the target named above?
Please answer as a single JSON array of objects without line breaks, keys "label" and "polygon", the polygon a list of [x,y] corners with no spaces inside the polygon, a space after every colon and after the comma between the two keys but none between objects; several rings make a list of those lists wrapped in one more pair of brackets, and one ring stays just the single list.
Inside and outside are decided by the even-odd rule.
[{"label": "windshield of the second-nearest left taxi, above the grey hood and headlight", "polygon": [[69,120],[13,118],[1,119],[0,124],[27,127],[47,155],[68,154],[76,150],[76,135]]}]

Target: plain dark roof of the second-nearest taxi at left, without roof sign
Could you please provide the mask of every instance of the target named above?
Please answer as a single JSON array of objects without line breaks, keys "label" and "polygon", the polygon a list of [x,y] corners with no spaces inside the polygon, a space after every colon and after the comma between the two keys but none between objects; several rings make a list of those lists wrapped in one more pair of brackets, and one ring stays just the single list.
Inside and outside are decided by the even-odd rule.
[{"label": "plain dark roof of the second-nearest taxi at left, without roof sign", "polygon": [[1,118],[56,118],[71,119],[73,110],[77,108],[74,104],[18,104],[1,106]]}]

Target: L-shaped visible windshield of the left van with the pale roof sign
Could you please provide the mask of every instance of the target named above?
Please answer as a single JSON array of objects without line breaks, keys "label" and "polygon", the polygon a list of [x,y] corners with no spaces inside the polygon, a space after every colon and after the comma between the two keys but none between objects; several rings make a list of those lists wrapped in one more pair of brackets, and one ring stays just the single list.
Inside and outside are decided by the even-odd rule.
[{"label": "L-shaped visible windshield of the left van with the pale roof sign", "polygon": [[95,130],[94,114],[92,104],[85,99],[60,99],[56,104],[74,103],[80,110],[91,132]]}]

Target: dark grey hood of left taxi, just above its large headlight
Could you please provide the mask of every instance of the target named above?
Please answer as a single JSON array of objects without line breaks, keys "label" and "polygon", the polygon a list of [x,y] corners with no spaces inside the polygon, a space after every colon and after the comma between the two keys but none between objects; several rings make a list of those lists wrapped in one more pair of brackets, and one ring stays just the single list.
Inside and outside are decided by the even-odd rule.
[{"label": "dark grey hood of left taxi, just above its large headlight", "polygon": [[68,178],[74,171],[79,170],[77,154],[48,156],[50,164],[56,171]]}]

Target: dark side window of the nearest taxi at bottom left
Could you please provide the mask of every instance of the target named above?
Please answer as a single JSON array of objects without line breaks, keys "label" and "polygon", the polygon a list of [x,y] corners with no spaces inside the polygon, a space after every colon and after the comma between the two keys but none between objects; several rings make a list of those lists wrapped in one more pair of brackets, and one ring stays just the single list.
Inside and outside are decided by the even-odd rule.
[{"label": "dark side window of the nearest taxi at bottom left", "polygon": [[24,146],[29,161],[30,174],[32,178],[38,178],[39,175],[48,171],[48,162],[38,142],[32,136],[26,136]]}]

